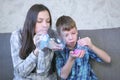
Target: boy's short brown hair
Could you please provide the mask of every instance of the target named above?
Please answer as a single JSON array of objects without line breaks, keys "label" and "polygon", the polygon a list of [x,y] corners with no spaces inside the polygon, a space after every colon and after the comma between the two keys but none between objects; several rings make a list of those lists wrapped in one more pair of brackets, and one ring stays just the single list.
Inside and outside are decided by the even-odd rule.
[{"label": "boy's short brown hair", "polygon": [[69,17],[69,16],[61,16],[58,18],[56,22],[56,30],[58,34],[60,34],[60,31],[69,31],[72,28],[76,28],[76,23],[75,21]]}]

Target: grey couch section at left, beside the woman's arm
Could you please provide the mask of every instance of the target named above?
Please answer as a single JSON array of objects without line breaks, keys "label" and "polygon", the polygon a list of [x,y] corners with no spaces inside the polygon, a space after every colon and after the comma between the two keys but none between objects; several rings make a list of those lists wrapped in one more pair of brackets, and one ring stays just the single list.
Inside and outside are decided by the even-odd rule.
[{"label": "grey couch section at left, beside the woman's arm", "polygon": [[0,33],[0,80],[13,79],[10,33]]}]

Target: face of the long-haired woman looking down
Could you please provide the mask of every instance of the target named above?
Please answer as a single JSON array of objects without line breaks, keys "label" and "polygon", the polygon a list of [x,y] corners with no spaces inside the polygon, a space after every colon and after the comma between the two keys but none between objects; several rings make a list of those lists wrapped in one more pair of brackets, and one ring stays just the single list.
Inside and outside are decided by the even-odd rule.
[{"label": "face of the long-haired woman looking down", "polygon": [[47,10],[40,11],[37,16],[35,33],[46,34],[50,27],[50,16]]}]

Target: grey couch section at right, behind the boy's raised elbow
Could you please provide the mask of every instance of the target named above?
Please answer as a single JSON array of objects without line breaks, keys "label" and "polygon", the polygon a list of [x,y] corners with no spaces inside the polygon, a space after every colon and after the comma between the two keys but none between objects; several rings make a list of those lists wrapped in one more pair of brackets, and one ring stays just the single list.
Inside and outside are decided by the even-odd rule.
[{"label": "grey couch section at right, behind the boy's raised elbow", "polygon": [[80,37],[90,37],[92,42],[105,50],[112,59],[111,64],[93,62],[93,69],[100,80],[120,79],[120,27],[98,30],[79,30]]}]

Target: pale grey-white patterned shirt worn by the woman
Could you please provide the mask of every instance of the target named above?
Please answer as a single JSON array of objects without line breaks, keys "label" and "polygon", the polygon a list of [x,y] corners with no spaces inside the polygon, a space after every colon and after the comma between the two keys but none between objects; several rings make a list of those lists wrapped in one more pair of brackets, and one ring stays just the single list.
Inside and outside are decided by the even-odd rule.
[{"label": "pale grey-white patterned shirt worn by the woman", "polygon": [[[14,68],[14,80],[56,80],[56,75],[49,73],[52,63],[51,61],[53,59],[53,52],[51,52],[50,50],[46,50],[47,53],[45,56],[36,57],[32,51],[30,55],[23,60],[19,57],[19,51],[21,48],[20,40],[20,30],[12,32],[10,44]],[[45,52],[41,51],[40,53]],[[38,62],[38,58],[40,62]],[[41,65],[41,73],[39,74],[36,73],[38,63]],[[44,65],[44,68],[42,67],[42,65]],[[32,72],[33,69],[35,69],[35,72]]]}]

